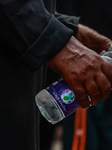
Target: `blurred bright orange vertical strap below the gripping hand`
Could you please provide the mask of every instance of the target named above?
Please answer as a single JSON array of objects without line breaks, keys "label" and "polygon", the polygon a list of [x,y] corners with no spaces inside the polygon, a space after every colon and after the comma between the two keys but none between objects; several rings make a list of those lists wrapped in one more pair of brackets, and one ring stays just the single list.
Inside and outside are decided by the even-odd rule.
[{"label": "blurred bright orange vertical strap below the gripping hand", "polygon": [[79,108],[75,114],[72,150],[85,150],[87,110]]}]

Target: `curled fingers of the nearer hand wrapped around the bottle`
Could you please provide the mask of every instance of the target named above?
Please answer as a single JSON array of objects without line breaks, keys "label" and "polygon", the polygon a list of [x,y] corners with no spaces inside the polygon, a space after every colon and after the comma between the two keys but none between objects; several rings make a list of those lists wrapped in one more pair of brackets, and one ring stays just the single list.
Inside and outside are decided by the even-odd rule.
[{"label": "curled fingers of the nearer hand wrapped around the bottle", "polygon": [[82,108],[88,108],[90,104],[99,104],[101,100],[109,97],[111,91],[111,83],[103,73],[93,80],[86,80],[84,85],[75,85],[74,93]]}]

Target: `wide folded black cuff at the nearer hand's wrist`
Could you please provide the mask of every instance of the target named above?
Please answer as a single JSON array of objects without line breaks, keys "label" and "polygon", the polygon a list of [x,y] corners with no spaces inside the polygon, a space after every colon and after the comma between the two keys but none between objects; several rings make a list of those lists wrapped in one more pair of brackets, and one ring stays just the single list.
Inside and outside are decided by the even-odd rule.
[{"label": "wide folded black cuff at the nearer hand's wrist", "polygon": [[38,70],[46,60],[52,58],[69,41],[73,31],[52,15],[39,38],[18,59],[30,70]]}]

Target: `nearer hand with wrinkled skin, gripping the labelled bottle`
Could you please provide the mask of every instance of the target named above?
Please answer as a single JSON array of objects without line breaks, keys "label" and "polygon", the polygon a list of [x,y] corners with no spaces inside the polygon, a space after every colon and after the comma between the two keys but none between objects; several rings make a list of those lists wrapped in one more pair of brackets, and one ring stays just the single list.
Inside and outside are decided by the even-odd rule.
[{"label": "nearer hand with wrinkled skin, gripping the labelled bottle", "polygon": [[47,64],[72,88],[82,108],[110,95],[112,65],[74,37]]}]

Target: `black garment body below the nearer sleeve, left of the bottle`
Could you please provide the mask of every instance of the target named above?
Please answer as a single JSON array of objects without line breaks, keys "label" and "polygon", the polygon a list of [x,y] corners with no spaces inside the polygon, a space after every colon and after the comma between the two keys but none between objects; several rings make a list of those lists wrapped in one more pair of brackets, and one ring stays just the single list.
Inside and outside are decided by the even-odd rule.
[{"label": "black garment body below the nearer sleeve, left of the bottle", "polygon": [[37,149],[37,73],[0,52],[0,149]]}]

